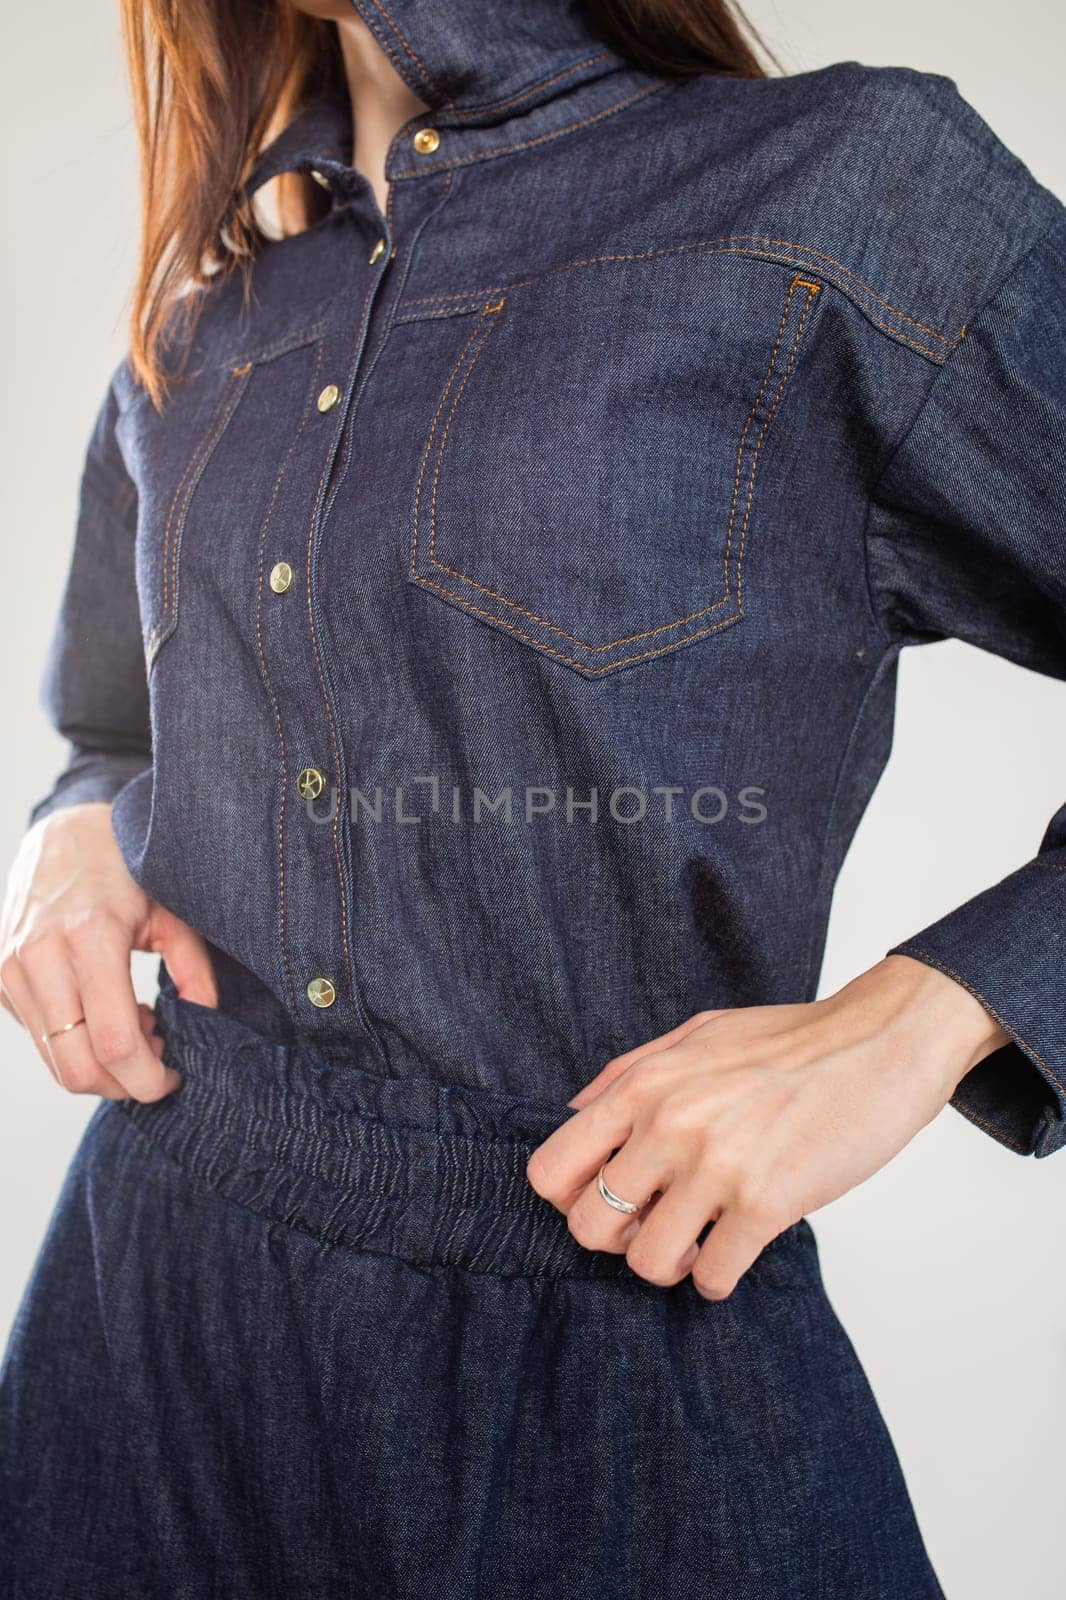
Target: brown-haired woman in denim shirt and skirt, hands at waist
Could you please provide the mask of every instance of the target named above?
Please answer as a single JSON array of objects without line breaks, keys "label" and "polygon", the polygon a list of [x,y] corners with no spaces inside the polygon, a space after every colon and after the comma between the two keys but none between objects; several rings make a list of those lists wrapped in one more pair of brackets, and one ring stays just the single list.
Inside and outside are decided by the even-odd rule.
[{"label": "brown-haired woman in denim shirt and skirt, hands at waist", "polygon": [[101,1106],[8,1587],[940,1595],[807,1213],[948,1101],[1066,1142],[1066,810],[813,995],[901,646],[1066,675],[1063,206],[951,80],[767,77],[725,0],[125,21],[141,274],[0,952]]}]

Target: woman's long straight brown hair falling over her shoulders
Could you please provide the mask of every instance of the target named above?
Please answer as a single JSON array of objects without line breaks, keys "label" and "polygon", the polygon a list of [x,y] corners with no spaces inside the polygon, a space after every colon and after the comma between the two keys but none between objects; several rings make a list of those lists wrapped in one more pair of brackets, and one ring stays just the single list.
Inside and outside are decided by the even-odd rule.
[{"label": "woman's long straight brown hair falling over her shoulders", "polygon": [[[767,75],[733,0],[584,0],[584,10],[603,42],[645,70]],[[141,154],[128,349],[162,406],[171,315],[187,326],[200,304],[189,291],[219,272],[240,266],[248,285],[264,234],[251,203],[232,205],[234,192],[293,114],[323,90],[344,93],[346,77],[338,29],[288,0],[122,0],[122,35]],[[277,184],[280,214],[296,226],[327,203],[301,173]]]}]

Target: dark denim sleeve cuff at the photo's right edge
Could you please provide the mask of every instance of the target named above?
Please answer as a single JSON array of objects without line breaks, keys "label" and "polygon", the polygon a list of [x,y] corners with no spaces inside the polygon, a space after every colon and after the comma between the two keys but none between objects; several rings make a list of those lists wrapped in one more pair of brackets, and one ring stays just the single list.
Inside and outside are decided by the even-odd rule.
[{"label": "dark denim sleeve cuff at the photo's right edge", "polygon": [[1010,1035],[951,1104],[1021,1155],[1066,1144],[1066,853],[1053,854],[888,950],[954,978]]}]

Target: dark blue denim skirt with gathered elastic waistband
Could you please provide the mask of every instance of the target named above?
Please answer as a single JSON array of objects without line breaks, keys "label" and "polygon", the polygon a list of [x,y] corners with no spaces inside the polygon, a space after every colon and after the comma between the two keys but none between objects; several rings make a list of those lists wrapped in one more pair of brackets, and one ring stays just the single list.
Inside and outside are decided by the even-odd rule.
[{"label": "dark blue denim skirt with gathered elastic waistband", "polygon": [[943,1600],[807,1219],[659,1288],[525,1179],[570,1107],[157,1013],[5,1357],[5,1597]]}]

